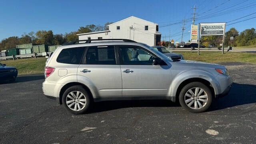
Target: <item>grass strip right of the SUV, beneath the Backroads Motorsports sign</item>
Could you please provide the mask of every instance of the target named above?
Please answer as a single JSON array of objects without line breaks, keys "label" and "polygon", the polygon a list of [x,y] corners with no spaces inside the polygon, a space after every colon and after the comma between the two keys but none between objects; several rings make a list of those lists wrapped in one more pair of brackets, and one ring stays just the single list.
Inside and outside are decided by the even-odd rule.
[{"label": "grass strip right of the SUV, beneath the Backroads Motorsports sign", "polygon": [[177,52],[183,54],[186,60],[196,60],[202,62],[250,62],[256,64],[256,54],[247,52]]}]

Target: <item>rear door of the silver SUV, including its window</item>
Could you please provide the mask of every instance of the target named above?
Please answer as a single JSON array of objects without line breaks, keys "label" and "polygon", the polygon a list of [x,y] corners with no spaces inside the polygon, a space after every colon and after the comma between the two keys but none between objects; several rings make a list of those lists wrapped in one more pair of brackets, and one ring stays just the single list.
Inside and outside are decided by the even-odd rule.
[{"label": "rear door of the silver SUV, including its window", "polygon": [[116,59],[114,46],[91,46],[78,67],[78,76],[88,79],[100,98],[122,96],[122,77]]}]

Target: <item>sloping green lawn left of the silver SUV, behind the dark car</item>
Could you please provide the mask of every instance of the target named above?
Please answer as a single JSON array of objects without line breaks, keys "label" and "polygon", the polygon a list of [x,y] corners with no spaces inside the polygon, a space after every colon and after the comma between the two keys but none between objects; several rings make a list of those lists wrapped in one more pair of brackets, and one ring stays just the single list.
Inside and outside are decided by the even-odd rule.
[{"label": "sloping green lawn left of the silver SUV, behind the dark car", "polygon": [[17,68],[18,75],[37,74],[44,73],[46,58],[22,58],[17,60],[4,60],[0,62],[2,64],[6,64],[7,66],[14,66],[15,68]]}]

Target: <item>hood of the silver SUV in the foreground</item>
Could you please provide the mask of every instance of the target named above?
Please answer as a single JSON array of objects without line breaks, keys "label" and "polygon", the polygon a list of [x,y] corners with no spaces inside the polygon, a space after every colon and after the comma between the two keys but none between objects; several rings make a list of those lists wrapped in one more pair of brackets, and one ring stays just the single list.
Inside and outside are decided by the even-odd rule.
[{"label": "hood of the silver SUV in the foreground", "polygon": [[177,63],[188,65],[188,66],[195,66],[195,67],[208,67],[208,68],[220,68],[220,69],[226,68],[225,66],[222,66],[220,64],[211,64],[207,62],[199,62],[194,60],[180,60]]}]

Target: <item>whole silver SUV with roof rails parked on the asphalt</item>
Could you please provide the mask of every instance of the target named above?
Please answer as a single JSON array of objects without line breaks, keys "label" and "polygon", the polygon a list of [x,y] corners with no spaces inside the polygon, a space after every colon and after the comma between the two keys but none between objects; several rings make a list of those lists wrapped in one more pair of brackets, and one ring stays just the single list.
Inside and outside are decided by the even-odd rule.
[{"label": "whole silver SUV with roof rails parked on the asphalt", "polygon": [[60,46],[45,67],[43,92],[73,114],[93,102],[166,99],[190,112],[204,112],[228,94],[232,78],[218,64],[172,61],[132,40],[86,40]]}]

